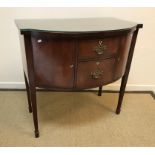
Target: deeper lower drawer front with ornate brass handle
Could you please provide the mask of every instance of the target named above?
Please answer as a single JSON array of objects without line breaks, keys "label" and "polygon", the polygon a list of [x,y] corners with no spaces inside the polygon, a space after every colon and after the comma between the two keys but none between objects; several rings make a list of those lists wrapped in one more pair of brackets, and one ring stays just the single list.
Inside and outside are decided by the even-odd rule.
[{"label": "deeper lower drawer front with ornate brass handle", "polygon": [[115,59],[80,62],[77,70],[77,88],[91,88],[113,81]]}]

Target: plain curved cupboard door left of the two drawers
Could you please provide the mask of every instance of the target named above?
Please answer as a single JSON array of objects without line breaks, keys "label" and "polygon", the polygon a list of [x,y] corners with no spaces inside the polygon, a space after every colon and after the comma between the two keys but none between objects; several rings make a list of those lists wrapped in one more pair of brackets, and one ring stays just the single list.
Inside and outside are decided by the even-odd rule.
[{"label": "plain curved cupboard door left of the two drawers", "polygon": [[72,88],[74,43],[69,40],[32,38],[38,87]]}]

